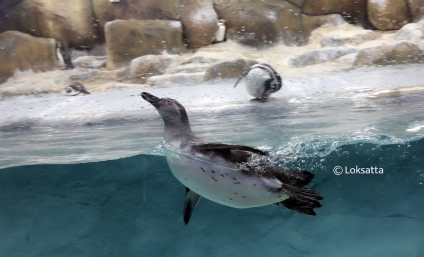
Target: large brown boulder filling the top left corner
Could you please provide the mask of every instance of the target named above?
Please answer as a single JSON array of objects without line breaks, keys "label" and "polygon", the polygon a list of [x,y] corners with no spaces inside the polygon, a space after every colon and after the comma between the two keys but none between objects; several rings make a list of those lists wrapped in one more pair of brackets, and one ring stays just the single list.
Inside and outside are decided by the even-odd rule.
[{"label": "large brown boulder filling the top left corner", "polygon": [[66,45],[93,47],[99,40],[91,1],[58,4],[49,0],[24,0],[5,10],[0,29],[18,30],[38,37],[55,38]]}]

